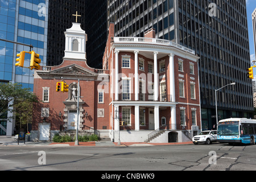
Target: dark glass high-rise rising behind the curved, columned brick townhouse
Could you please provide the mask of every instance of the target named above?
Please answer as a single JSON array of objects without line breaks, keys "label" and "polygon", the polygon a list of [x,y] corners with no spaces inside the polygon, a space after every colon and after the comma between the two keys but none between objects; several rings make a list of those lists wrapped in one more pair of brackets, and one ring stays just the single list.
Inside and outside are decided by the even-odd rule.
[{"label": "dark glass high-rise rising behind the curved, columned brick townhouse", "polygon": [[218,119],[250,118],[253,111],[246,1],[228,0],[108,0],[108,23],[115,36],[139,36],[155,28],[156,38],[172,40],[200,56],[202,129]]}]

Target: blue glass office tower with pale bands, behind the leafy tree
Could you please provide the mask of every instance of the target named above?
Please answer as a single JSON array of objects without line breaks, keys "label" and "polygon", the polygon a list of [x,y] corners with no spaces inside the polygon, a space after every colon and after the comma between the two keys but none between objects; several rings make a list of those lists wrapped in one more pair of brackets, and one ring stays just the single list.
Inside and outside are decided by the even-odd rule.
[{"label": "blue glass office tower with pale bands, behind the leafy tree", "polygon": [[[40,55],[40,65],[46,65],[48,0],[5,0],[0,2],[0,37],[34,46]],[[26,53],[24,67],[15,67],[16,54],[30,51],[30,47],[0,41],[0,82],[18,82],[23,88],[33,89],[34,70],[24,68],[30,65],[30,54]],[[12,135],[15,122],[1,116],[0,135]]]}]

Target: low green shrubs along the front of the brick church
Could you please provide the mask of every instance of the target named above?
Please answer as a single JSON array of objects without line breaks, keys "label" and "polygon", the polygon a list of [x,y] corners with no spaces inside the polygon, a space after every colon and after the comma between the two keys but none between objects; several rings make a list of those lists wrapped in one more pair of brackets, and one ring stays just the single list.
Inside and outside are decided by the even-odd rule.
[{"label": "low green shrubs along the front of the brick church", "polygon": [[[53,142],[57,142],[57,143],[63,143],[63,142],[73,142],[76,140],[75,138],[72,138],[69,135],[64,135],[64,136],[60,136],[60,134],[56,133],[53,137]],[[93,135],[79,135],[79,142],[88,142],[88,141],[97,141],[98,140],[98,136],[93,134]]]}]

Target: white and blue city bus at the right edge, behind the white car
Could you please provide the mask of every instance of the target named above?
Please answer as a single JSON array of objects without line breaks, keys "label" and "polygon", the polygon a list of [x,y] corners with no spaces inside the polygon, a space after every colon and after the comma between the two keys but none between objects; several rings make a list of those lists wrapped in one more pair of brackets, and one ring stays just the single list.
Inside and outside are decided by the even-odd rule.
[{"label": "white and blue city bus at the right edge, behind the white car", "polygon": [[228,118],[218,122],[217,142],[255,144],[256,119]]}]

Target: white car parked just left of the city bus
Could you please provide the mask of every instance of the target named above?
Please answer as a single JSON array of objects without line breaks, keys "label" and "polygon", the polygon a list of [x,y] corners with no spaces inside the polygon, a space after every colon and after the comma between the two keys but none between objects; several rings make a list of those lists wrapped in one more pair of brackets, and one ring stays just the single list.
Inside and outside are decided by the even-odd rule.
[{"label": "white car parked just left of the city bus", "polygon": [[199,135],[192,138],[192,142],[194,144],[211,144],[212,142],[217,142],[217,130],[202,131]]}]

